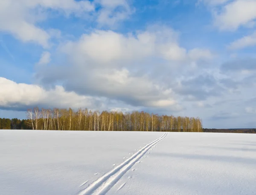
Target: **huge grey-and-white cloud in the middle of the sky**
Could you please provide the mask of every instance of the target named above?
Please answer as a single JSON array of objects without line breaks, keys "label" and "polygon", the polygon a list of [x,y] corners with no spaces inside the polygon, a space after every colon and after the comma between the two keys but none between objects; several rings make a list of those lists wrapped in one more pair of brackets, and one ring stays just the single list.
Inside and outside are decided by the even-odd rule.
[{"label": "huge grey-and-white cloud in the middle of the sky", "polygon": [[[96,30],[59,47],[67,58],[65,69],[58,65],[43,68],[36,78],[44,85],[64,83],[67,91],[81,95],[106,97],[131,106],[177,110],[180,103],[172,89],[177,75],[170,77],[170,73],[184,69],[182,66],[191,60],[212,56],[207,49],[187,51],[179,46],[178,39],[178,33],[166,26],[150,26],[136,34]],[[159,59],[165,65],[158,68],[162,78],[157,79],[152,69],[157,69]]]}]

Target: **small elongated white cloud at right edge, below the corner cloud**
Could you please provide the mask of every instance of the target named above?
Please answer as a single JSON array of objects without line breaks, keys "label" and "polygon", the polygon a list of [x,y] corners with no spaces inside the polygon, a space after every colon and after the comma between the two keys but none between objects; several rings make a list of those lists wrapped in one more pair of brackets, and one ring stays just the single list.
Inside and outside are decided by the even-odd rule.
[{"label": "small elongated white cloud at right edge, below the corner cloud", "polygon": [[250,46],[256,45],[256,32],[253,34],[244,36],[234,42],[230,43],[228,46],[229,49],[243,49]]}]

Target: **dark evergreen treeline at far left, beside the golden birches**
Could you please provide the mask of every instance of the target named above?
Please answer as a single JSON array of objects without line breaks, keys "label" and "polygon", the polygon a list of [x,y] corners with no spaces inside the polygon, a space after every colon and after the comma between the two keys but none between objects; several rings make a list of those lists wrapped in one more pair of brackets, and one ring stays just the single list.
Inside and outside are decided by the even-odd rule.
[{"label": "dark evergreen treeline at far left, beside the golden birches", "polygon": [[32,129],[29,120],[0,118],[0,129]]}]

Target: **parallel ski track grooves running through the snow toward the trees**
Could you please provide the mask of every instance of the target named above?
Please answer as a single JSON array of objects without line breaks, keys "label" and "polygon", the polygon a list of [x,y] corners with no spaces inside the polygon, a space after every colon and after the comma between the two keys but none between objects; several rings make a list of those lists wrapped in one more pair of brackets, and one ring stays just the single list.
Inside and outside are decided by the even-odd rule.
[{"label": "parallel ski track grooves running through the snow toward the trees", "polygon": [[143,157],[152,146],[163,140],[166,135],[167,132],[155,141],[145,145],[130,158],[127,158],[126,161],[102,175],[87,188],[81,190],[78,195],[105,195],[135,163],[139,162],[140,158]]}]

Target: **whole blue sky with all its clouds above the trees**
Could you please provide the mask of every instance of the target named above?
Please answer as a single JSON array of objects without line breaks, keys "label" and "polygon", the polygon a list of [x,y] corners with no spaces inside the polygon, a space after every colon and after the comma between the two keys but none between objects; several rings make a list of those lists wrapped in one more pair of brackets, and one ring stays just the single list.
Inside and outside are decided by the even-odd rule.
[{"label": "whole blue sky with all its clouds above the trees", "polygon": [[256,127],[256,0],[0,0],[0,118],[88,108]]}]

